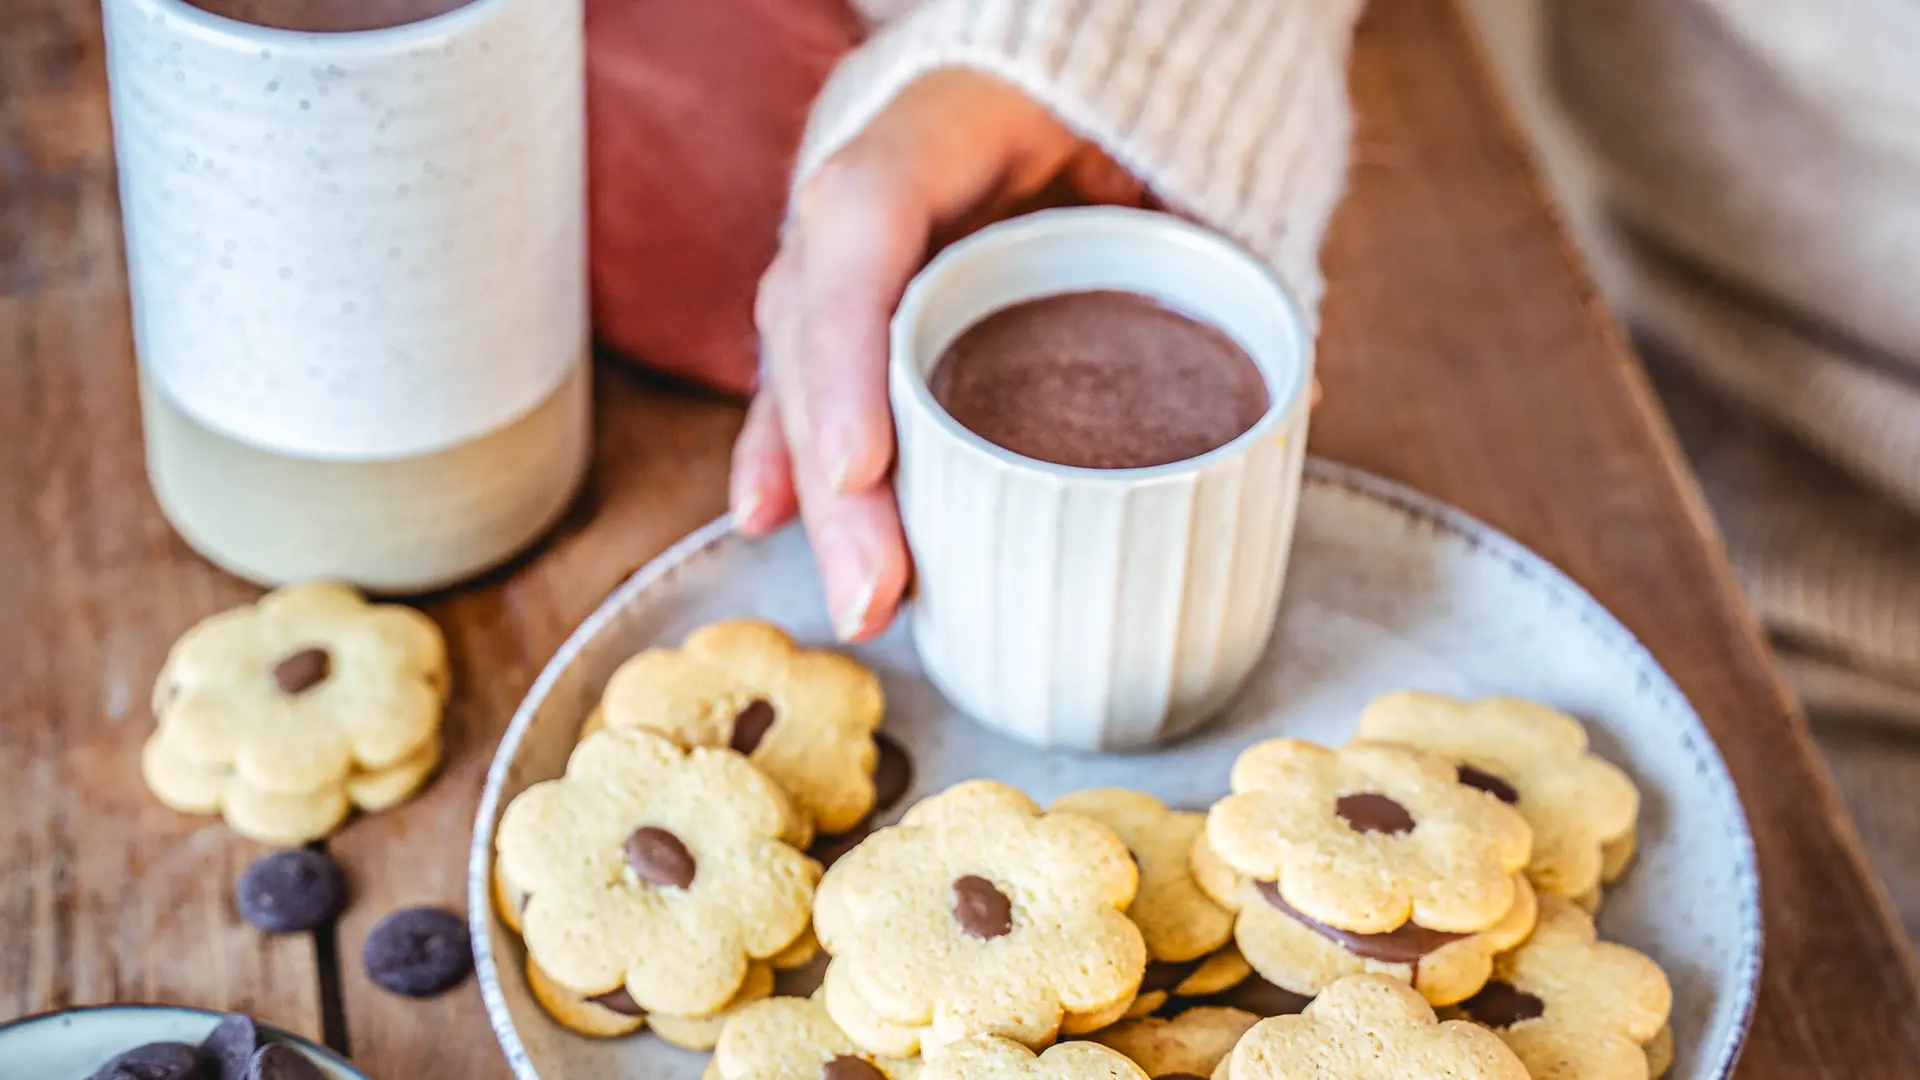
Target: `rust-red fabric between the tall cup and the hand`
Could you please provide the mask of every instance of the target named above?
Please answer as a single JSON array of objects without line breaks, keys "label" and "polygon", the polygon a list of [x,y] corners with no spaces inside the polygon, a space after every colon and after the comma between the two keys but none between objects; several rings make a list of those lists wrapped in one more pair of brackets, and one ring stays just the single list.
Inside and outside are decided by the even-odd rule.
[{"label": "rust-red fabric between the tall cup and the hand", "polygon": [[845,0],[588,0],[593,331],[743,394],[808,106],[860,40]]}]

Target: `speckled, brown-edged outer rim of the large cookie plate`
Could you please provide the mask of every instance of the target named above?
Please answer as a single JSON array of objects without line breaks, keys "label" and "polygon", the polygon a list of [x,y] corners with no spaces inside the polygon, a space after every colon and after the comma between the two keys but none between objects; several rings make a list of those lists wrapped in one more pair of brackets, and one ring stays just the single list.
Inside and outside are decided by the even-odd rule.
[{"label": "speckled, brown-edged outer rim of the large cookie plate", "polygon": [[[1697,773],[1713,786],[1722,788],[1730,805],[1740,807],[1738,819],[1728,824],[1734,832],[1736,876],[1741,892],[1741,926],[1738,942],[1740,978],[1738,986],[1728,988],[1728,992],[1734,994],[1736,1024],[1732,1036],[1726,1040],[1726,1045],[1720,1049],[1720,1061],[1709,1076],[1701,1078],[1728,1080],[1734,1072],[1734,1065],[1740,1061],[1740,1051],[1745,1047],[1747,1034],[1753,1026],[1753,1009],[1761,984],[1764,922],[1761,917],[1761,878],[1753,849],[1753,830],[1747,822],[1745,803],[1740,801],[1740,790],[1734,786],[1734,778],[1726,771],[1726,761],[1713,744],[1713,736],[1707,734],[1699,713],[1693,711],[1693,705],[1684,694],[1680,694],[1674,680],[1667,675],[1659,661],[1653,659],[1653,653],[1640,644],[1640,638],[1636,638],[1632,630],[1615,619],[1611,611],[1607,611],[1559,567],[1548,563],[1505,532],[1500,532],[1461,509],[1423,496],[1413,488],[1352,465],[1340,465],[1323,457],[1309,457],[1306,477],[1309,488],[1336,488],[1350,496],[1371,500],[1415,525],[1423,525],[1432,532],[1461,540],[1469,548],[1503,563],[1505,569],[1517,578],[1551,594],[1571,619],[1580,621],[1597,640],[1607,642],[1620,655],[1620,659],[1636,671],[1638,678],[1661,703],[1663,711],[1680,726],[1682,744],[1688,753],[1693,755]],[[536,678],[534,686],[528,688],[526,698],[513,715],[513,723],[507,724],[507,734],[499,740],[493,763],[488,767],[486,788],[480,794],[480,809],[474,815],[474,836],[467,853],[467,926],[472,936],[474,969],[480,978],[480,997],[486,1003],[488,1020],[493,1024],[493,1034],[499,1040],[501,1051],[507,1055],[507,1065],[518,1080],[551,1078],[543,1078],[534,1068],[532,1061],[528,1061],[526,1047],[520,1042],[513,1017],[507,1009],[507,999],[499,984],[499,963],[493,957],[493,936],[490,926],[493,917],[490,884],[493,822],[499,817],[499,798],[507,784],[507,773],[518,755],[520,742],[526,738],[534,717],[540,713],[540,705],[545,701],[547,694],[553,692],[553,686],[580,655],[586,644],[597,638],[620,611],[634,603],[636,598],[678,571],[687,563],[687,559],[714,548],[732,534],[733,519],[722,515],[684,536],[607,594],[607,600],[601,601],[601,605],[588,615],[588,619],[580,623],[572,634],[568,634],[566,642],[561,644],[561,648],[553,653],[553,659],[549,659],[541,669],[540,678]]]}]

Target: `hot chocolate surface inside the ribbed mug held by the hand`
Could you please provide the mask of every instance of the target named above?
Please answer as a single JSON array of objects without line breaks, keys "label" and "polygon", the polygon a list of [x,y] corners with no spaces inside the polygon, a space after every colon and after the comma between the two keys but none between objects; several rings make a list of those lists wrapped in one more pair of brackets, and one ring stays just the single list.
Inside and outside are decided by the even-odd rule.
[{"label": "hot chocolate surface inside the ribbed mug held by the hand", "polygon": [[927,377],[962,427],[1023,457],[1144,469],[1260,423],[1267,382],[1221,331],[1133,292],[1068,292],[968,327]]}]

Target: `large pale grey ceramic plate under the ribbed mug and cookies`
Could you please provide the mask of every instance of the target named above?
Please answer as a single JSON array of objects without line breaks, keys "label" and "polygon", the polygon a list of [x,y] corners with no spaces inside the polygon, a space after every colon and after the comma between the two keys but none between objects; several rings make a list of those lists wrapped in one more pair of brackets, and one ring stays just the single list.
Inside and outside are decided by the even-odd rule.
[{"label": "large pale grey ceramic plate under the ribbed mug and cookies", "polygon": [[[643,567],[568,638],[501,740],[480,801],[468,909],[480,988],[520,1080],[695,1080],[705,1065],[651,1036],[595,1042],[547,1020],[526,990],[520,942],[490,913],[488,874],[499,809],[561,774],[614,667],[735,615],[831,640],[797,530],[751,542],[718,521]],[[1453,509],[1315,461],[1265,661],[1223,717],[1152,753],[1037,751],[995,736],[941,700],[899,626],[854,653],[885,682],[885,730],[914,757],[906,801],[993,776],[1043,803],[1114,784],[1206,805],[1227,792],[1250,742],[1346,742],[1361,705],[1386,690],[1519,694],[1567,709],[1644,792],[1640,859],[1609,892],[1601,932],[1651,953],[1672,978],[1670,1076],[1720,1080],[1732,1068],[1759,978],[1761,915],[1753,840],[1726,765],[1672,680],[1594,598]]]}]

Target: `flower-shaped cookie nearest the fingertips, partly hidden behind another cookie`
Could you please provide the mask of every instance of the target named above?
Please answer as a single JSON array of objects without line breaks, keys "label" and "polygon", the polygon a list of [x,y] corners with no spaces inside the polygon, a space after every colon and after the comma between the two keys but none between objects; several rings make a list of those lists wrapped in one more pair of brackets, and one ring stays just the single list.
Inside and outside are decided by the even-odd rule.
[{"label": "flower-shaped cookie nearest the fingertips, partly hidden behind another cookie", "polygon": [[678,650],[636,655],[607,682],[601,709],[607,726],[745,753],[824,834],[851,830],[874,805],[879,680],[839,653],[799,650],[768,623],[714,623]]}]

